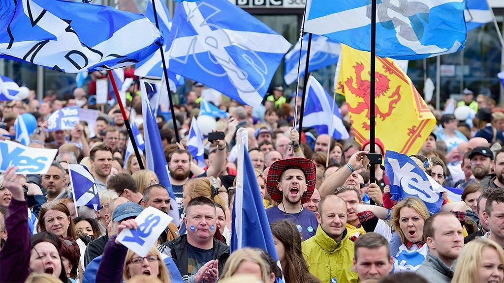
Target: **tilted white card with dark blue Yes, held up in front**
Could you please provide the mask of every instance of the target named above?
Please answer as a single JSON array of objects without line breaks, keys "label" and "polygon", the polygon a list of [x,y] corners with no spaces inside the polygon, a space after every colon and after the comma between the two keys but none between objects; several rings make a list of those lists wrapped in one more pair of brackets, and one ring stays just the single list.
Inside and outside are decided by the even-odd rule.
[{"label": "tilted white card with dark blue Yes, held up in front", "polygon": [[138,222],[138,228],[122,230],[117,235],[117,241],[144,257],[172,218],[161,210],[149,206],[135,220]]}]

